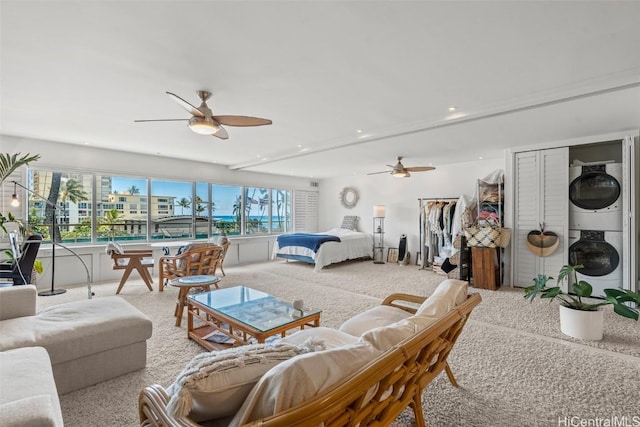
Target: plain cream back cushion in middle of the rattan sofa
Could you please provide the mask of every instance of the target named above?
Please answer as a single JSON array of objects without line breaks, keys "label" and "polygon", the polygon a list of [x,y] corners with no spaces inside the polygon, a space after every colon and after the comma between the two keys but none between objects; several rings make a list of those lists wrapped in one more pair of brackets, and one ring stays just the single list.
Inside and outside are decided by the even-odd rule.
[{"label": "plain cream back cushion in middle of the rattan sofa", "polygon": [[380,354],[368,342],[302,354],[264,374],[228,427],[278,414],[326,390]]}]

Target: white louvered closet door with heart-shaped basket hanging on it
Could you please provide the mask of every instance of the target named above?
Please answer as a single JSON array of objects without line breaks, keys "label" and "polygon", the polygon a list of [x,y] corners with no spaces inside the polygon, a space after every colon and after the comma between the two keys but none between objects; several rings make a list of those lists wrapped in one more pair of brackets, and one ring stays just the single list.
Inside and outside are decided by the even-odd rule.
[{"label": "white louvered closet door with heart-shaped basket hanging on it", "polygon": [[[569,150],[517,153],[515,156],[515,209],[513,283],[529,286],[538,274],[557,277],[566,263],[569,223]],[[526,244],[527,234],[539,230],[560,236],[560,246],[548,257],[533,254]]]}]

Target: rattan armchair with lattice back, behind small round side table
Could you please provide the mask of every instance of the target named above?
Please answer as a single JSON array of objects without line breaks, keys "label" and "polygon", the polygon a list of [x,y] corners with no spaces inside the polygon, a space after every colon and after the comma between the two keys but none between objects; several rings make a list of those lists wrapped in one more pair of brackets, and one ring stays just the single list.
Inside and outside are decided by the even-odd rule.
[{"label": "rattan armchair with lattice back, behind small round side table", "polygon": [[169,280],[184,276],[214,275],[222,246],[213,243],[191,243],[180,255],[160,258],[160,292]]}]

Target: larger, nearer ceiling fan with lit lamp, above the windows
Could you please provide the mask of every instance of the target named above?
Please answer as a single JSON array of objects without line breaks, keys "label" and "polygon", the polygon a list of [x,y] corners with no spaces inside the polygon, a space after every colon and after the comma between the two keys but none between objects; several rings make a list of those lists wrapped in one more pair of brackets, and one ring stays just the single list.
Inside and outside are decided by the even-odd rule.
[{"label": "larger, nearer ceiling fan with lit lamp, above the windows", "polygon": [[207,106],[207,99],[211,96],[211,92],[206,90],[199,90],[198,96],[202,103],[199,107],[191,105],[189,102],[180,98],[178,95],[171,92],[167,92],[169,98],[173,99],[178,105],[191,113],[190,119],[151,119],[151,120],[134,120],[136,123],[140,122],[177,122],[187,121],[187,126],[201,135],[212,135],[220,139],[228,139],[229,134],[227,130],[222,127],[226,126],[263,126],[270,125],[272,122],[269,119],[262,119],[260,117],[251,116],[214,116],[211,109]]}]

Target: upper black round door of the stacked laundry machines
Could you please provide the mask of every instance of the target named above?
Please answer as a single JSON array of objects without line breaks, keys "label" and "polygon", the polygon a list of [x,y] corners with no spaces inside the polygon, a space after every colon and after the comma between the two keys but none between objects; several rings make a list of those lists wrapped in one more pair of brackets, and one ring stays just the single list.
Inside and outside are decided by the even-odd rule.
[{"label": "upper black round door of the stacked laundry machines", "polygon": [[579,208],[604,209],[620,197],[620,183],[607,173],[606,165],[582,167],[582,174],[569,185],[569,200]]}]

